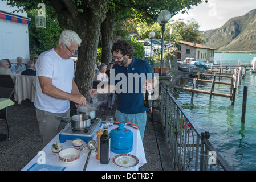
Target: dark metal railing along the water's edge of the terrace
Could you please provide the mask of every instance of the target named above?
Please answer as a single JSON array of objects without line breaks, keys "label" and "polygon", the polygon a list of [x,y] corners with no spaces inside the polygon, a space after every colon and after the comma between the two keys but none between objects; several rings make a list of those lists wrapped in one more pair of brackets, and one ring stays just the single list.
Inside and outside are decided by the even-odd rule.
[{"label": "dark metal railing along the water's edge of the terrace", "polygon": [[177,170],[232,170],[162,82],[161,124]]}]

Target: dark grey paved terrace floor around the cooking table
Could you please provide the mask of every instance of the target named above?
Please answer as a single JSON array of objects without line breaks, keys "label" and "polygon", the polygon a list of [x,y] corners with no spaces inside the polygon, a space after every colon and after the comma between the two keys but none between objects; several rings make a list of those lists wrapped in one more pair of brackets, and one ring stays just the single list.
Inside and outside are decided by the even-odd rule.
[{"label": "dark grey paved terrace floor around the cooking table", "polygon": [[[97,117],[105,119],[107,111],[101,113]],[[21,105],[15,102],[7,109],[7,115],[11,140],[0,142],[0,171],[18,171],[42,150],[42,139],[36,121],[35,106],[30,100],[22,101]],[[115,110],[108,111],[108,115],[115,116]],[[0,133],[7,134],[5,121],[0,122]],[[173,170],[161,127],[157,122],[151,122],[150,114],[148,114],[143,146],[147,164],[140,168],[141,171]]]}]

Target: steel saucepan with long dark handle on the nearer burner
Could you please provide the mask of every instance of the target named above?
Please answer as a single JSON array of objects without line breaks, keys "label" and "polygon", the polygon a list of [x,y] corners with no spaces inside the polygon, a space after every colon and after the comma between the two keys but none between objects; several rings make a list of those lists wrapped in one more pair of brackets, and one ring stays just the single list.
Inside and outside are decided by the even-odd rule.
[{"label": "steel saucepan with long dark handle on the nearer burner", "polygon": [[71,118],[55,115],[55,118],[60,118],[66,121],[71,121],[71,127],[75,130],[87,129],[91,126],[91,117],[86,114],[73,115]]}]

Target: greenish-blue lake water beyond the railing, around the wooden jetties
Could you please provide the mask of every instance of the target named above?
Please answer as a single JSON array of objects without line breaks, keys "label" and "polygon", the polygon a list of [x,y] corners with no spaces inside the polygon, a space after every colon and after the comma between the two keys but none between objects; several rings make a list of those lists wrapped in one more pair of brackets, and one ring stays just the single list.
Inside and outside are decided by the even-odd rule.
[{"label": "greenish-blue lake water beyond the railing, around the wooden jetties", "polygon": [[[223,60],[250,60],[249,54],[221,54]],[[233,57],[232,57],[233,56]],[[252,55],[251,59],[256,57]],[[214,56],[215,59],[215,56]],[[218,79],[218,77],[217,77]],[[230,78],[221,81],[230,82]],[[192,87],[192,82],[186,84]],[[243,88],[248,86],[245,123],[241,123]],[[198,89],[210,90],[211,83],[200,82]],[[229,85],[216,84],[214,91],[229,93]],[[180,91],[177,101],[193,119],[202,131],[210,132],[210,142],[220,152],[221,156],[234,170],[256,170],[256,74],[247,71],[245,79],[237,88],[235,104],[231,105],[230,98],[194,93],[193,102],[191,92]]]}]

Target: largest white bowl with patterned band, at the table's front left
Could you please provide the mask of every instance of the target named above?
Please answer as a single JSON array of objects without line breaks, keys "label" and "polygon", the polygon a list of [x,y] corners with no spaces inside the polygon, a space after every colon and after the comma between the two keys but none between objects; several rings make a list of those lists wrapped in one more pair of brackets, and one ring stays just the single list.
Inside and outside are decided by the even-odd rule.
[{"label": "largest white bowl with patterned band, at the table's front left", "polygon": [[80,158],[80,151],[75,148],[67,148],[59,152],[59,160],[65,164],[71,164],[78,161]]}]

